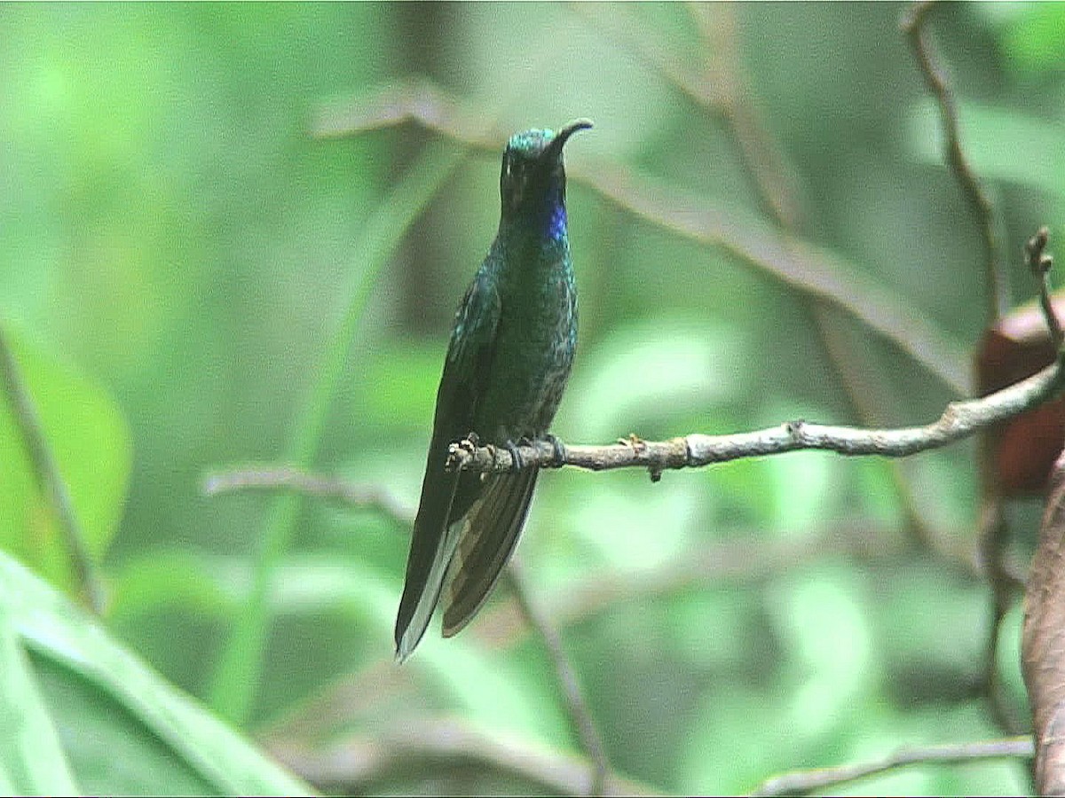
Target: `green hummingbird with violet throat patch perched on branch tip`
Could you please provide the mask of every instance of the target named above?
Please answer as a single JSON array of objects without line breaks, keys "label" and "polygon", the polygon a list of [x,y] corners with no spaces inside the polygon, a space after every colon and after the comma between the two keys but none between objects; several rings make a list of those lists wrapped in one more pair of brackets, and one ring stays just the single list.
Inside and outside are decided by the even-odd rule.
[{"label": "green hummingbird with violet throat patch perched on branch tip", "polygon": [[445,637],[473,619],[525,522],[535,467],[523,468],[518,456],[507,473],[444,466],[448,445],[471,433],[517,455],[515,442],[541,438],[555,417],[577,338],[562,147],[591,127],[578,119],[557,133],[515,133],[503,152],[498,232],[455,314],[437,390],[396,617],[399,662],[422,639],[441,596]]}]

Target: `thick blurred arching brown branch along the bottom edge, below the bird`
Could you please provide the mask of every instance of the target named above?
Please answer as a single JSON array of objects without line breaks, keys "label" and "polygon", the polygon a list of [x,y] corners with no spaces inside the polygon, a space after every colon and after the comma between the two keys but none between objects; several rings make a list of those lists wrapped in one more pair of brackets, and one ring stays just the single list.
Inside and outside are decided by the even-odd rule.
[{"label": "thick blurred arching brown branch along the bottom edge, below the bird", "polygon": [[[455,721],[439,721],[350,739],[325,751],[311,751],[285,742],[267,747],[293,772],[315,786],[343,794],[373,792],[374,784],[399,774],[410,779],[423,771],[452,768],[492,768],[539,784],[559,795],[588,792],[589,763],[543,749],[536,744],[493,732],[491,735]],[[645,784],[611,775],[604,795],[658,795]]]}]

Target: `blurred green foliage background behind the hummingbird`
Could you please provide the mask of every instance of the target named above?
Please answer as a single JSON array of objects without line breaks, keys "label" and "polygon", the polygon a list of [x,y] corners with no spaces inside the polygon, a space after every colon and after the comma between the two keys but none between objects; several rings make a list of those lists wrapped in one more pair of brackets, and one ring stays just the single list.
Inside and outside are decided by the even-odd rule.
[{"label": "blurred green foliage background behind the hummingbird", "polygon": [[[584,757],[506,584],[461,635],[435,625],[392,662],[407,517],[506,136],[595,122],[567,148],[580,334],[562,440],[927,423],[971,393],[989,294],[906,11],[0,7],[0,325],[101,564],[109,629],[279,752],[394,752],[407,735],[406,764],[337,776],[345,791],[557,792],[419,755],[446,720],[542,772]],[[1027,301],[1021,245],[1065,220],[1065,10],[950,4],[929,31],[996,206],[1003,294]],[[974,453],[805,452],[658,483],[544,473],[524,581],[611,771],[737,793],[1027,728],[1019,605],[998,652],[1016,728],[982,692]],[[206,495],[209,475],[249,465],[378,501]],[[4,547],[69,587],[2,416],[0,486]],[[1018,518],[1023,563],[1037,515]],[[1030,787],[1004,760],[852,788]]]}]

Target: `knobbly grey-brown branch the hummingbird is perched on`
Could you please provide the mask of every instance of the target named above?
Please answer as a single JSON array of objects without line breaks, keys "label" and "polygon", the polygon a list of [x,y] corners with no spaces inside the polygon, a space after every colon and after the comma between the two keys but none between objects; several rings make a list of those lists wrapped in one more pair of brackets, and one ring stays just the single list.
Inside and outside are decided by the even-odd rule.
[{"label": "knobbly grey-brown branch the hummingbird is perched on", "polygon": [[[634,435],[609,446],[556,447],[551,442],[535,440],[514,447],[514,451],[521,461],[519,467],[560,468],[570,465],[602,471],[636,466],[646,468],[653,480],[659,479],[667,469],[695,468],[802,449],[902,458],[955,443],[1047,400],[1065,384],[1063,361],[1065,355],[1060,354],[1042,371],[995,394],[951,402],[937,421],[924,427],[865,430],[796,420],[755,432],[732,435],[693,433],[662,442],[641,440]],[[476,446],[466,438],[450,445],[447,467],[503,473],[515,470],[515,463],[510,450],[492,445]]]}]

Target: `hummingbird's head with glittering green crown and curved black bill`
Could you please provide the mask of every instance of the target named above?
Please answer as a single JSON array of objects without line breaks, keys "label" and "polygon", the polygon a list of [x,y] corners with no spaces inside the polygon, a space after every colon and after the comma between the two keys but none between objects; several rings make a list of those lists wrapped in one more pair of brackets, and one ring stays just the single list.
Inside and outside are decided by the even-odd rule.
[{"label": "hummingbird's head with glittering green crown and curved black bill", "polygon": [[566,201],[562,147],[578,130],[591,127],[587,119],[577,119],[558,133],[527,130],[510,137],[499,174],[504,216],[550,212]]}]

